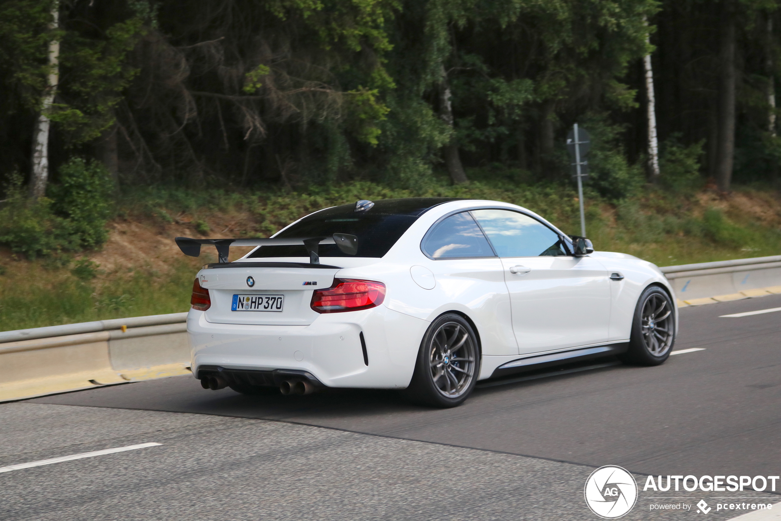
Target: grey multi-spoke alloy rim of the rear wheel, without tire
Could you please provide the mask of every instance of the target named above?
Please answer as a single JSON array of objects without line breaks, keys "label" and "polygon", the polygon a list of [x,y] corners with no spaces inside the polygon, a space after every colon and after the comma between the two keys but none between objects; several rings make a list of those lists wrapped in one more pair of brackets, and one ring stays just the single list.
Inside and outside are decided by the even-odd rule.
[{"label": "grey multi-spoke alloy rim of the rear wheel, without tire", "polygon": [[443,396],[458,398],[475,377],[475,341],[457,322],[442,324],[431,337],[430,369],[434,386]]}]

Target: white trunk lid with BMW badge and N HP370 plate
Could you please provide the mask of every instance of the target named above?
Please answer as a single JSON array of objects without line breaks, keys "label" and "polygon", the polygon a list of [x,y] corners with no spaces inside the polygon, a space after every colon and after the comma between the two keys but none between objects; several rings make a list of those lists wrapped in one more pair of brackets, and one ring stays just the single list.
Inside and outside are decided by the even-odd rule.
[{"label": "white trunk lid with BMW badge and N HP370 plate", "polygon": [[[319,316],[309,307],[312,292],[330,287],[341,269],[298,262],[230,262],[226,267],[217,266],[198,272],[201,287],[209,290],[212,300],[205,312],[206,320],[274,326],[312,323]],[[258,298],[265,305],[256,303]],[[242,310],[245,305],[251,310]]]}]

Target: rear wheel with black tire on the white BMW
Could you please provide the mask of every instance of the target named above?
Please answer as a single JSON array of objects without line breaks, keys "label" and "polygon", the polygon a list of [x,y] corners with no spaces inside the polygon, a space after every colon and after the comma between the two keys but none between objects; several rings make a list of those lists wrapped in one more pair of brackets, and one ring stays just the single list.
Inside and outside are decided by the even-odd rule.
[{"label": "rear wheel with black tire on the white BMW", "polygon": [[401,392],[420,405],[455,407],[472,394],[479,372],[480,347],[472,326],[448,313],[423,335],[412,381]]}]

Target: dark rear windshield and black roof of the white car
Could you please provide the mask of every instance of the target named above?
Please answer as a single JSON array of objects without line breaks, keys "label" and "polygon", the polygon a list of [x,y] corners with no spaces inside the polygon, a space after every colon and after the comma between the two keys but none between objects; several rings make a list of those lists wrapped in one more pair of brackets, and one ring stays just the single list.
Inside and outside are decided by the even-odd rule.
[{"label": "dark rear windshield and black roof of the white car", "polygon": [[[301,219],[275,237],[330,237],[351,234],[358,237],[358,254],[348,255],[336,244],[320,244],[321,257],[382,257],[424,212],[455,198],[383,199],[364,212],[355,212],[355,203],[334,206]],[[305,257],[303,245],[261,246],[249,255],[265,257]]]}]

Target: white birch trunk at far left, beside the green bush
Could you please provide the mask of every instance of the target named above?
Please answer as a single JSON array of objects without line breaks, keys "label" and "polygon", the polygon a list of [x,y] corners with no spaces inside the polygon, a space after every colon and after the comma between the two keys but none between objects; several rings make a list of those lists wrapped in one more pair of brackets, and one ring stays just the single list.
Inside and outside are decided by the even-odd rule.
[{"label": "white birch trunk at far left, beside the green bush", "polygon": [[[59,25],[59,0],[52,2],[52,21],[49,30],[54,31]],[[54,102],[57,84],[59,83],[59,40],[52,37],[48,45],[49,73],[44,95],[41,97],[41,113],[35,125],[33,134],[33,168],[30,180],[30,197],[40,198],[46,193],[48,180],[48,134],[51,121],[48,119],[48,111]]]}]

